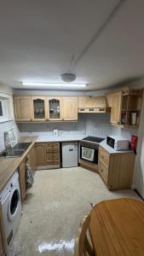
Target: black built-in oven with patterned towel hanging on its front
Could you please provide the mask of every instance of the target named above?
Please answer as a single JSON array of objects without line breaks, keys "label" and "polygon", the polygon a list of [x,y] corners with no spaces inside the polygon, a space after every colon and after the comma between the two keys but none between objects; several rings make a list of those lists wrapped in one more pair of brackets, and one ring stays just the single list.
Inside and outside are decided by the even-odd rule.
[{"label": "black built-in oven with patterned towel hanging on its front", "polygon": [[87,142],[81,141],[80,159],[98,164],[98,150],[99,150],[99,144],[87,143]]}]

